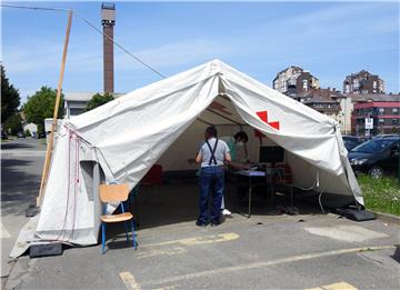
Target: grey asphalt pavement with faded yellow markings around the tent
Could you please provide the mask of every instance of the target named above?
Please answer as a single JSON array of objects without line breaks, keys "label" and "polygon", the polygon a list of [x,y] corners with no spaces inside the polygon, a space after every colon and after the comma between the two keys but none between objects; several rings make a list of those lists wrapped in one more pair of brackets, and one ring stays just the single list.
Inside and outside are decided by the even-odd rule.
[{"label": "grey asphalt pavement with faded yellow markings around the tent", "polygon": [[311,207],[299,216],[234,213],[219,227],[198,228],[192,184],[149,191],[141,200],[138,250],[118,236],[109,237],[106,254],[94,246],[10,262],[24,210],[38,191],[44,149],[32,140],[8,143],[1,173],[7,289],[400,288],[399,224],[354,222]]}]

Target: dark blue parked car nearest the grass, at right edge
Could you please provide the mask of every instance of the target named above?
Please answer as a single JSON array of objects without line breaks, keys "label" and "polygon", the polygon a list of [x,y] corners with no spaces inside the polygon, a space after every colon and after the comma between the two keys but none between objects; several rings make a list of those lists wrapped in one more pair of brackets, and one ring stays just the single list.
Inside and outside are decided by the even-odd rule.
[{"label": "dark blue parked car nearest the grass, at right edge", "polygon": [[373,138],[353,148],[348,158],[356,173],[373,178],[398,173],[400,137]]}]

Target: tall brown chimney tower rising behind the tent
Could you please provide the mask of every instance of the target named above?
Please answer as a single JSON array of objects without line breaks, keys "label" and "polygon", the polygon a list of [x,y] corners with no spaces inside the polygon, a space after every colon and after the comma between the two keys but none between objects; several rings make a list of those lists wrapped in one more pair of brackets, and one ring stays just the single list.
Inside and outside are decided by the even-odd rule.
[{"label": "tall brown chimney tower rising behind the tent", "polygon": [[116,4],[101,4],[101,24],[103,27],[103,86],[104,92],[113,92],[113,27],[116,24]]}]

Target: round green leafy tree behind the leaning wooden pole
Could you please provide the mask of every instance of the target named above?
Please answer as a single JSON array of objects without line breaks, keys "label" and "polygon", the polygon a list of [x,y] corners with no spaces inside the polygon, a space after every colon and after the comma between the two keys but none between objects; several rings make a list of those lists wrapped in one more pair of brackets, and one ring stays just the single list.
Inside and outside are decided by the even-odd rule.
[{"label": "round green leafy tree behind the leaning wooden pole", "polygon": [[[41,87],[32,97],[28,97],[27,103],[23,106],[23,112],[27,122],[38,126],[38,133],[44,132],[44,119],[53,117],[57,90],[49,87]],[[62,119],[64,114],[63,94],[61,94],[58,118]]]}]

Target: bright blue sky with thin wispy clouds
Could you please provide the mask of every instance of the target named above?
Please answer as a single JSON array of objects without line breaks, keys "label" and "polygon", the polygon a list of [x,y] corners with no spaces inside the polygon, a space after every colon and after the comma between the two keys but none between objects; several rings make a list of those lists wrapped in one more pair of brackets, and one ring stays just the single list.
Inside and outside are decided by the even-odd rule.
[{"label": "bright blue sky with thin wispy clouds", "polygon": [[[100,2],[19,3],[72,8],[101,28]],[[1,59],[23,99],[57,87],[66,24],[66,12],[2,9]],[[218,58],[268,86],[296,64],[322,88],[342,90],[368,69],[400,91],[399,2],[117,2],[114,39],[167,76]],[[114,57],[118,92],[160,79],[118,48]],[[78,17],[63,91],[102,91],[102,37]]]}]

